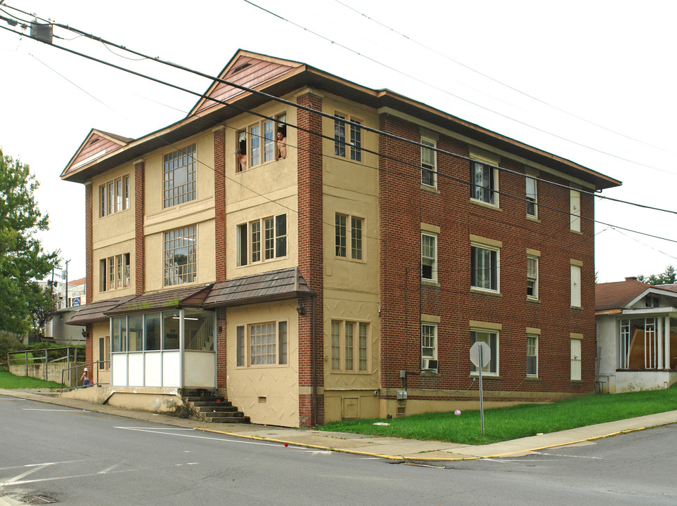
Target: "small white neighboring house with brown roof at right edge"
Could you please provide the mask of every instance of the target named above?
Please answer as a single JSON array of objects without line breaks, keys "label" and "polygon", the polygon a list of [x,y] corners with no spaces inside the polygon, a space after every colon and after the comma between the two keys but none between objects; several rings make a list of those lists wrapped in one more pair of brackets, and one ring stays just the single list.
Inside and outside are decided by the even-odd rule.
[{"label": "small white neighboring house with brown roof at right edge", "polygon": [[677,285],[637,278],[595,288],[602,392],[665,389],[677,382]]}]

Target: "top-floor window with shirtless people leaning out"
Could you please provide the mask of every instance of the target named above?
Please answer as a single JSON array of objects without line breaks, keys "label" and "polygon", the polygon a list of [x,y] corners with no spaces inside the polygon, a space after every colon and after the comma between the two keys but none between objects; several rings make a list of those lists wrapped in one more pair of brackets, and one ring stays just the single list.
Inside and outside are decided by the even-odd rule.
[{"label": "top-floor window with shirtless people leaning out", "polygon": [[287,136],[286,121],[287,115],[281,114],[273,119],[262,119],[237,132],[236,172],[276,160],[277,134],[281,132],[283,138]]}]

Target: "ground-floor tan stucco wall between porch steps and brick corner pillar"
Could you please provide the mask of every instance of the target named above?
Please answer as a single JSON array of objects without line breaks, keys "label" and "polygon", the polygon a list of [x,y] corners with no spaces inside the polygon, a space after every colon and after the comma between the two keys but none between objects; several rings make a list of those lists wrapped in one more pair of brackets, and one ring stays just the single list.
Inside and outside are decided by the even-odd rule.
[{"label": "ground-floor tan stucco wall between porch steps and brick corner pillar", "polygon": [[[299,427],[299,316],[296,305],[297,300],[293,299],[226,311],[228,401],[249,416],[252,423]],[[288,364],[238,368],[238,325],[245,325],[246,335],[249,324],[281,320],[288,322]]]}]

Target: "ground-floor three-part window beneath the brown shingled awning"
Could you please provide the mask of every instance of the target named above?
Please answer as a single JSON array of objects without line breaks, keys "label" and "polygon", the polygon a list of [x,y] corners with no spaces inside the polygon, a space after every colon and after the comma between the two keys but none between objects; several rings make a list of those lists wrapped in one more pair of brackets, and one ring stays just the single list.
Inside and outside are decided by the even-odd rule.
[{"label": "ground-floor three-part window beneath the brown shingled awning", "polygon": [[266,322],[236,328],[236,365],[285,365],[287,363],[287,322]]}]

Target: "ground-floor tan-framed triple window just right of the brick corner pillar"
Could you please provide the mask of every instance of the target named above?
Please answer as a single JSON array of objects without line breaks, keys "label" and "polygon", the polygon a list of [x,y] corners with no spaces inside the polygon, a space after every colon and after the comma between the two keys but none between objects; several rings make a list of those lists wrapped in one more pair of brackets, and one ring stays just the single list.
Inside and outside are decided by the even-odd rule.
[{"label": "ground-floor tan-framed triple window just right of the brick corner pillar", "polygon": [[368,372],[368,323],[338,321],[331,323],[331,370]]}]

